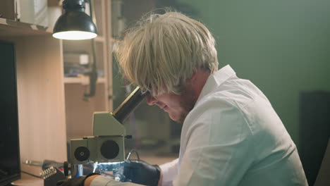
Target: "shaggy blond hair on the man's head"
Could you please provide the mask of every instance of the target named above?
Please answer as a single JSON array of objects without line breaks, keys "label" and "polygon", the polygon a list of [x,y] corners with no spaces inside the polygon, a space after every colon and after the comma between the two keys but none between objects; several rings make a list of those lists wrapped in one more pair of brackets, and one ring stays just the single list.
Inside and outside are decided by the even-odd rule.
[{"label": "shaggy blond hair on the man's head", "polygon": [[116,60],[130,82],[157,96],[181,94],[197,68],[218,69],[214,37],[207,27],[177,12],[152,14],[116,44]]}]

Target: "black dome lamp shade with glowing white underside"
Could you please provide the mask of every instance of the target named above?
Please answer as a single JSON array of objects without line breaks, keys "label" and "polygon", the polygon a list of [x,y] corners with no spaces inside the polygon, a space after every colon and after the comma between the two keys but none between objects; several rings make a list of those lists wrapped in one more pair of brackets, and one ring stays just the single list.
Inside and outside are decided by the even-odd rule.
[{"label": "black dome lamp shade with glowing white underside", "polygon": [[[66,0],[75,1],[75,0]],[[83,8],[65,7],[65,13],[59,17],[54,25],[53,37],[58,39],[92,39],[97,36],[97,27],[92,22],[92,18],[88,16]]]}]

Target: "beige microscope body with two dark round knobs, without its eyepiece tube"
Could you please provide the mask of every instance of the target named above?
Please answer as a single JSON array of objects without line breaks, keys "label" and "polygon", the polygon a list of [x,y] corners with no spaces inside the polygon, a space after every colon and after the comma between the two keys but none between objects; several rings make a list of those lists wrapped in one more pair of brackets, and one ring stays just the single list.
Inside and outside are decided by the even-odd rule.
[{"label": "beige microscope body with two dark round knobs, without its eyepiece tube", "polygon": [[70,140],[71,175],[82,175],[78,165],[125,161],[126,130],[108,112],[93,116],[93,136]]}]

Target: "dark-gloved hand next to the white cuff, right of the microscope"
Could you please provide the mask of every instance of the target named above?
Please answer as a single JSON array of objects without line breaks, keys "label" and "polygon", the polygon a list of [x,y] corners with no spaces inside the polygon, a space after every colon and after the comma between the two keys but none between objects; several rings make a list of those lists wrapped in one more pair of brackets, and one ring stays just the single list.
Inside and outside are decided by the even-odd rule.
[{"label": "dark-gloved hand next to the white cuff, right of the microscope", "polygon": [[115,176],[124,175],[126,181],[141,185],[157,186],[161,170],[157,165],[151,165],[142,160],[127,160],[123,167],[119,168]]}]

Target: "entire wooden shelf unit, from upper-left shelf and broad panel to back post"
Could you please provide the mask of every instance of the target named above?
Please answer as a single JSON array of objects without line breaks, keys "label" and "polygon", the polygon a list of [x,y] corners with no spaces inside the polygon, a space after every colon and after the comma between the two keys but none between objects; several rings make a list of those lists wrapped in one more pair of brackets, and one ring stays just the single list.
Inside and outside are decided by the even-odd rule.
[{"label": "entire wooden shelf unit, from upper-left shelf and broad panel to back post", "polygon": [[[49,2],[59,6],[54,0]],[[90,41],[62,41],[51,36],[51,27],[0,18],[0,40],[13,42],[16,47],[21,162],[66,161],[67,140],[91,135],[92,113],[112,110],[108,99],[112,94],[111,45],[107,43],[111,36],[111,1],[94,0],[94,8],[100,35],[94,39],[97,66],[103,75],[98,77],[96,96],[89,99],[83,97],[89,84],[87,77],[64,77],[63,54],[78,49],[90,51]],[[22,170],[27,168],[23,165]]]}]

